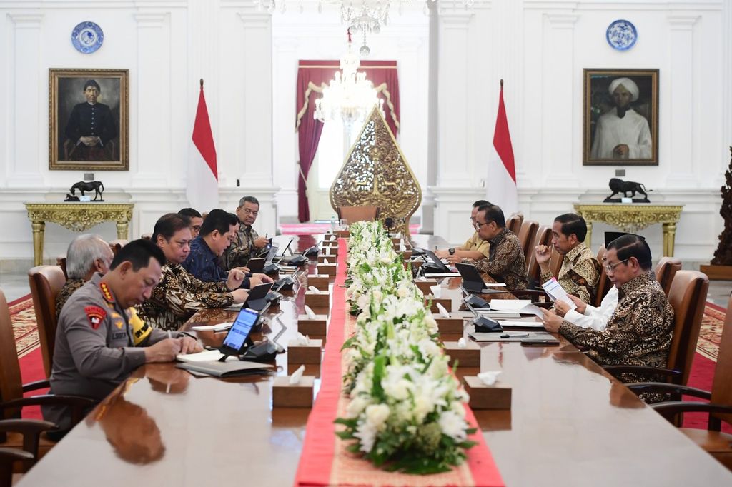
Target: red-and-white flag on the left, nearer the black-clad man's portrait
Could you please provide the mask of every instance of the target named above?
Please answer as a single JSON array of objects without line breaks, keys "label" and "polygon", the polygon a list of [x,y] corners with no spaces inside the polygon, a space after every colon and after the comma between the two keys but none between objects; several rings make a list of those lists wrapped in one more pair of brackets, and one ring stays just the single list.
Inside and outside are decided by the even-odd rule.
[{"label": "red-and-white flag on the left, nearer the black-clad man's portrait", "polygon": [[198,94],[198,109],[193,124],[193,146],[188,157],[186,196],[191,208],[203,213],[219,207],[219,181],[216,169],[216,147],[209,123],[209,110],[203,97],[203,80]]}]

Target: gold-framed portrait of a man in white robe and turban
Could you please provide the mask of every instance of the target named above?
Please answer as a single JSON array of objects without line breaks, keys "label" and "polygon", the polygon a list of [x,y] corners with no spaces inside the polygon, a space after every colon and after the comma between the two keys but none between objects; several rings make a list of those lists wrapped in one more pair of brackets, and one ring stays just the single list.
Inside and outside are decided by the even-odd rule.
[{"label": "gold-framed portrait of a man in white robe and turban", "polygon": [[658,69],[583,75],[583,165],[658,165]]}]

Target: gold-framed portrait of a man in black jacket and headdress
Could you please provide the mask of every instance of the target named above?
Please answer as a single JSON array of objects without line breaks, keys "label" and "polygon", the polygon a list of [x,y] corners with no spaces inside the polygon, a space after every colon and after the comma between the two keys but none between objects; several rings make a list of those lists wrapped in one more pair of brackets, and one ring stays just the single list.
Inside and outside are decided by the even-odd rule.
[{"label": "gold-framed portrait of a man in black jacket and headdress", "polygon": [[128,170],[129,71],[48,70],[48,168]]}]

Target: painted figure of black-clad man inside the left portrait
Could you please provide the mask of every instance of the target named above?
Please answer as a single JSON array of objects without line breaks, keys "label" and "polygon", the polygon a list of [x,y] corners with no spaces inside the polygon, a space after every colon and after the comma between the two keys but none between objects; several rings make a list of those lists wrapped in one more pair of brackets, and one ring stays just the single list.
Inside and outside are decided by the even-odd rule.
[{"label": "painted figure of black-clad man inside the left portrait", "polygon": [[114,159],[114,143],[117,127],[108,105],[98,102],[102,88],[95,80],[84,83],[85,102],[71,110],[64,134],[72,146],[67,147],[71,161],[111,161]]}]

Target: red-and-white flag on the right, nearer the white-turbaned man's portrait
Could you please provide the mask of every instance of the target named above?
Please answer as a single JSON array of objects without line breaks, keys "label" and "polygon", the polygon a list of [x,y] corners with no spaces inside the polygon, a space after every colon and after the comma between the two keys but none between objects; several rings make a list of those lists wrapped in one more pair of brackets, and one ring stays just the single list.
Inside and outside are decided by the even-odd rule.
[{"label": "red-and-white flag on the right, nearer the white-turbaned man's portrait", "polygon": [[508,130],[506,106],[503,101],[503,80],[498,97],[496,130],[493,132],[493,147],[488,157],[488,201],[498,205],[508,217],[518,211],[518,190],[516,189],[516,165],[513,159],[511,134]]}]

